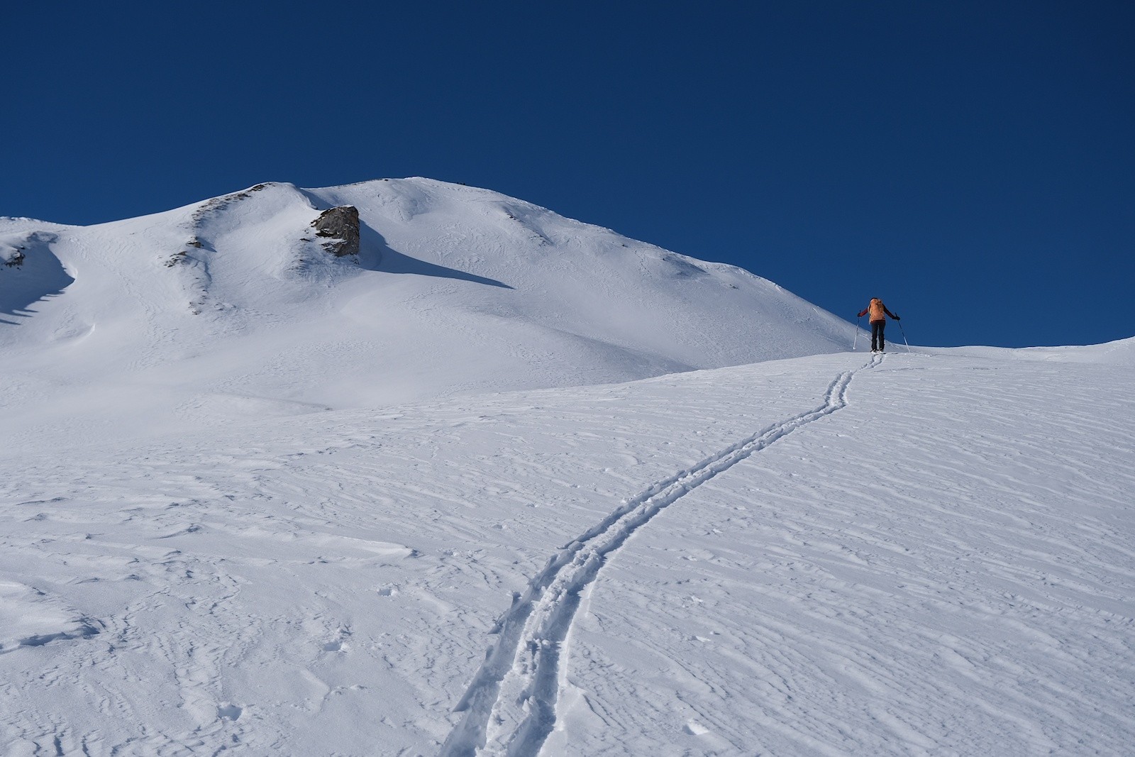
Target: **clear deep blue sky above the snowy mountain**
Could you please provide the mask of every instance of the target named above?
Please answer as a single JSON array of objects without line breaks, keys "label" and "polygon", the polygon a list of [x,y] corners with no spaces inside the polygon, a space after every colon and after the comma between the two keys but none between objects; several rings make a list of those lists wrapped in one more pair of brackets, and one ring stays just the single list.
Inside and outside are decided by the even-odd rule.
[{"label": "clear deep blue sky above the snowy mountain", "polygon": [[920,344],[1135,336],[1126,0],[19,6],[0,215],[429,176]]}]

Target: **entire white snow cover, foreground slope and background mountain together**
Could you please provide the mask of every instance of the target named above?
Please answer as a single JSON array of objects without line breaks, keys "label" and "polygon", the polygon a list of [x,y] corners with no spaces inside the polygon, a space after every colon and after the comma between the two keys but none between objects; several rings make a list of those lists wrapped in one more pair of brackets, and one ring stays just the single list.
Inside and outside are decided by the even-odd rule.
[{"label": "entire white snow cover, foreground slope and background mountain together", "polygon": [[499,195],[372,184],[318,191],[370,268],[270,269],[277,220],[184,280],[121,237],[167,215],[0,224],[54,293],[0,316],[0,754],[1130,754],[1135,339],[850,353],[735,269],[580,263],[539,209],[558,263],[431,258],[444,224],[350,193],[432,193],[455,238]]}]

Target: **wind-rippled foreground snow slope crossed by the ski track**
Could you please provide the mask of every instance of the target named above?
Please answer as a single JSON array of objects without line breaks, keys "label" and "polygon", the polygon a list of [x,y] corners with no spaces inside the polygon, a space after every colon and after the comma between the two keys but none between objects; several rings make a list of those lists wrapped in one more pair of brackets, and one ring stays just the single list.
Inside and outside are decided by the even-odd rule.
[{"label": "wind-rippled foreground snow slope crossed by the ski track", "polygon": [[1079,352],[6,446],[0,751],[1125,754],[1133,363]]}]

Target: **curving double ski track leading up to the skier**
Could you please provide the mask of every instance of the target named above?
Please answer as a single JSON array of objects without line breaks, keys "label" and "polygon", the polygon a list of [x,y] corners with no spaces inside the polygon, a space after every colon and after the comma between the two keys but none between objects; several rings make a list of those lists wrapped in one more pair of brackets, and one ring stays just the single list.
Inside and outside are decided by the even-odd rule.
[{"label": "curving double ski track leading up to the skier", "polygon": [[[874,355],[865,368],[874,368],[882,360],[882,354]],[[595,581],[607,555],[696,487],[796,429],[847,406],[848,385],[856,372],[840,373],[818,407],[653,483],[554,555],[527,591],[513,597],[512,607],[497,622],[494,632],[499,639],[457,704],[456,712],[466,715],[449,734],[440,756],[538,754],[556,723],[561,656],[580,592]]]}]

